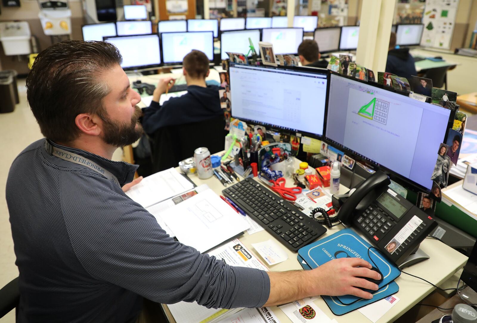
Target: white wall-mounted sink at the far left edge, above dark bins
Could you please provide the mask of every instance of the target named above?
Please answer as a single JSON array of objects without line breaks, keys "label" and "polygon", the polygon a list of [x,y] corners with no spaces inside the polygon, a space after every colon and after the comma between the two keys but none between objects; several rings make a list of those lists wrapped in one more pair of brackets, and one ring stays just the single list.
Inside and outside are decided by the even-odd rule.
[{"label": "white wall-mounted sink at the far left edge, above dark bins", "polygon": [[0,22],[0,41],[5,55],[28,55],[31,53],[30,25],[26,21]]}]

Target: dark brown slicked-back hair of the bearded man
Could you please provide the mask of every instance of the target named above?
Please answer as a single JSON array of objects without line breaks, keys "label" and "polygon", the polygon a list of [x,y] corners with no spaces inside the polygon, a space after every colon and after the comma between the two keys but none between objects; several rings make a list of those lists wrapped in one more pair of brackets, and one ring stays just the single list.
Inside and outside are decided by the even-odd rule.
[{"label": "dark brown slicked-back hair of the bearded man", "polygon": [[104,41],[66,40],[41,51],[26,79],[27,99],[41,133],[52,141],[73,141],[81,113],[104,116],[103,98],[111,91],[102,72],[123,61]]}]

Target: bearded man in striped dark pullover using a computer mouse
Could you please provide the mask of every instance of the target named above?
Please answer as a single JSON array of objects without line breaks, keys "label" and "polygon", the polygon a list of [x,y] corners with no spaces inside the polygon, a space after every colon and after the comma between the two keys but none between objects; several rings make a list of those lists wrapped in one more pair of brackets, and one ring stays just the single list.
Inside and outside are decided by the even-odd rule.
[{"label": "bearded man in striped dark pullover using a computer mouse", "polygon": [[378,286],[360,277],[380,275],[359,258],[265,272],[172,239],[124,193],[137,166],[111,160],[143,133],[141,97],[121,62],[108,42],[66,40],[41,51],[28,74],[28,102],[46,138],[18,155],[7,179],[20,272],[17,322],[136,322],[143,298],[209,308],[372,298],[361,288]]}]

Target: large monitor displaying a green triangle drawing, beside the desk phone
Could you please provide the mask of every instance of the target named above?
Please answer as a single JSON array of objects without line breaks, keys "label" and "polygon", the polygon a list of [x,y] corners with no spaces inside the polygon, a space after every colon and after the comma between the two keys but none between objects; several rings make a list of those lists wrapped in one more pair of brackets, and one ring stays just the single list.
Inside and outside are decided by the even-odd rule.
[{"label": "large monitor displaying a green triangle drawing, beside the desk phone", "polygon": [[[233,96],[232,96],[233,98]],[[332,74],[325,137],[427,190],[450,110]]]}]

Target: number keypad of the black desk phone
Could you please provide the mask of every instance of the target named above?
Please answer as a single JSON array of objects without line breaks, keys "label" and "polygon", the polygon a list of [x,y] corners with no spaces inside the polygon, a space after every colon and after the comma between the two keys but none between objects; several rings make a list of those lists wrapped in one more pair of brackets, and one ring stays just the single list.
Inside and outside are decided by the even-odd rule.
[{"label": "number keypad of the black desk phone", "polygon": [[[363,228],[363,231],[368,233],[379,241],[391,228],[394,226],[394,219],[389,216],[377,204],[371,204],[368,208],[356,219],[356,222]],[[414,232],[413,232],[414,233]]]}]

